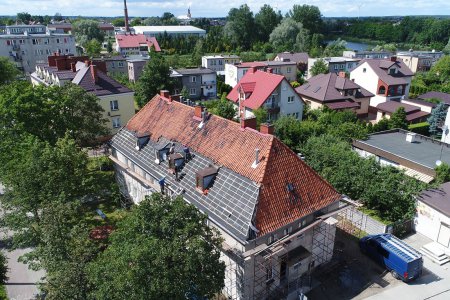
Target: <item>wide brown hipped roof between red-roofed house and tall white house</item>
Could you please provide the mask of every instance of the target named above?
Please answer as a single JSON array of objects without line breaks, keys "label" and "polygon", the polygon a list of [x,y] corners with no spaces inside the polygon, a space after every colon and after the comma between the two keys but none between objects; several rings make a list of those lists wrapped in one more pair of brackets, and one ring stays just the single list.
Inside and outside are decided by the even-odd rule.
[{"label": "wide brown hipped roof between red-roofed house and tall white house", "polygon": [[[354,95],[341,94],[341,90],[356,90]],[[308,98],[320,102],[329,102],[336,100],[354,100],[355,98],[373,97],[374,95],[354,83],[348,78],[342,78],[335,73],[319,74],[311,77],[307,83],[297,87],[295,91]]]}]

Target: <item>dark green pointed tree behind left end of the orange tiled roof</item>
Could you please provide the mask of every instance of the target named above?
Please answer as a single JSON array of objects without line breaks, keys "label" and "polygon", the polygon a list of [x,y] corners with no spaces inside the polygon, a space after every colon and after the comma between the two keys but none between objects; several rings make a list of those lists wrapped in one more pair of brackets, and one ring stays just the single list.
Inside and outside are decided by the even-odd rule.
[{"label": "dark green pointed tree behind left end of the orange tiled roof", "polygon": [[136,82],[135,98],[139,107],[144,106],[160,90],[171,90],[174,82],[170,77],[170,67],[165,58],[152,51],[150,61],[145,65],[141,77]]}]

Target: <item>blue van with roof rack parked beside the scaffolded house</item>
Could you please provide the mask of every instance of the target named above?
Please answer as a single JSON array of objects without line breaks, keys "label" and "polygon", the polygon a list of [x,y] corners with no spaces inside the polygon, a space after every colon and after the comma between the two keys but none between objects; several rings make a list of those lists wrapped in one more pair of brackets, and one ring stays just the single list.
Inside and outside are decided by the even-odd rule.
[{"label": "blue van with roof rack parked beside the scaffolded house", "polygon": [[392,234],[368,235],[360,239],[361,251],[386,267],[392,276],[405,282],[422,275],[422,255]]}]

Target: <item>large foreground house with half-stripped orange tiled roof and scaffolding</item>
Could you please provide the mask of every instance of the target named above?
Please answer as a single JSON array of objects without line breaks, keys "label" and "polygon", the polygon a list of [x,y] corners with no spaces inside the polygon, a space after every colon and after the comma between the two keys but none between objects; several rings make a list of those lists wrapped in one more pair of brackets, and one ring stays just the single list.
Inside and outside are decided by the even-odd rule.
[{"label": "large foreground house with half-stripped orange tiled roof and scaffolding", "polygon": [[136,204],[180,196],[206,214],[223,239],[227,299],[306,293],[332,257],[341,196],[271,125],[258,132],[162,94],[110,143],[121,193]]}]

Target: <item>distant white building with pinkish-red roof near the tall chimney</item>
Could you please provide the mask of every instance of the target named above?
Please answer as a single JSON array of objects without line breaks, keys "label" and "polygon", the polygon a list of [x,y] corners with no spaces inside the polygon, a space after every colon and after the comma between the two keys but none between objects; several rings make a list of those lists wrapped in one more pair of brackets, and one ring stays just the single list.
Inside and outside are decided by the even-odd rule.
[{"label": "distant white building with pinkish-red roof near the tall chimney", "polygon": [[161,51],[158,41],[154,37],[133,33],[116,35],[116,51],[121,55],[148,56],[152,47],[157,52]]}]

